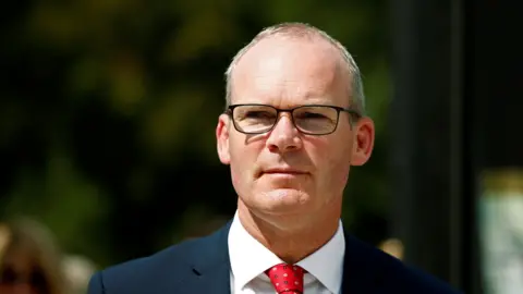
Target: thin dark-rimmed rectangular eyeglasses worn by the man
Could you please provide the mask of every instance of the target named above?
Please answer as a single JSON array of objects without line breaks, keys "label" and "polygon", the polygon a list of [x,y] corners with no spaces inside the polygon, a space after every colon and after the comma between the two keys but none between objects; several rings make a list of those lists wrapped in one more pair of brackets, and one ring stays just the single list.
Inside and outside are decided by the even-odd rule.
[{"label": "thin dark-rimmed rectangular eyeglasses worn by the man", "polygon": [[226,113],[232,118],[234,128],[244,134],[263,134],[271,131],[278,122],[280,112],[291,113],[292,123],[303,134],[328,135],[336,131],[340,112],[356,118],[360,113],[353,109],[336,106],[307,105],[292,109],[278,109],[267,105],[232,105]]}]

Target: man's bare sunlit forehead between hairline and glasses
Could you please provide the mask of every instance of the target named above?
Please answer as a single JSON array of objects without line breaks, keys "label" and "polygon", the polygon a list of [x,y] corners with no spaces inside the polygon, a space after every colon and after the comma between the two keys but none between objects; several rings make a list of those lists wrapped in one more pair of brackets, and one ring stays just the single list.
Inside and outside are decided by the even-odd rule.
[{"label": "man's bare sunlit forehead between hairline and glasses", "polygon": [[349,75],[327,41],[264,39],[241,58],[232,79],[232,103],[349,103]]}]

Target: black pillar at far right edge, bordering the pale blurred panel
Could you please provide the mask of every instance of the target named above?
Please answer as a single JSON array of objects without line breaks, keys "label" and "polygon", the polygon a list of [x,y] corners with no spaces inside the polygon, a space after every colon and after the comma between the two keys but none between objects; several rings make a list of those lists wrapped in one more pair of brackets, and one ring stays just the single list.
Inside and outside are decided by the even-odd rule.
[{"label": "black pillar at far right edge, bordering the pale blurred panel", "polygon": [[[466,1],[465,101],[470,110],[472,205],[477,211],[485,197],[484,175],[507,170],[523,173],[523,62],[521,13],[509,0]],[[523,211],[522,211],[523,213]],[[466,233],[470,293],[490,293],[482,267],[479,234],[484,223],[473,213],[475,234]],[[482,221],[482,222],[481,222]],[[506,241],[509,242],[509,241]],[[523,279],[523,277],[521,277]]]}]

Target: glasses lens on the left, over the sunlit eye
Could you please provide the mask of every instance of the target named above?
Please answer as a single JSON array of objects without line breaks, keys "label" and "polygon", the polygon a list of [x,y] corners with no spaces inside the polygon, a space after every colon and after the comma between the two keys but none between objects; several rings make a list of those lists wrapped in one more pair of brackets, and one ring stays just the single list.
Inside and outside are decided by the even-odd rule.
[{"label": "glasses lens on the left, over the sunlit eye", "polygon": [[239,106],[232,113],[234,124],[244,133],[263,133],[278,119],[276,109],[268,106]]}]

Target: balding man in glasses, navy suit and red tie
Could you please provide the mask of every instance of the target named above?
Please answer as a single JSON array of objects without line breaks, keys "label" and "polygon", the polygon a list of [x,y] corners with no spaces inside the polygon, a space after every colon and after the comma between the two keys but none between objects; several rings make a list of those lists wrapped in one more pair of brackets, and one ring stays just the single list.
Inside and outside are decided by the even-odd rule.
[{"label": "balding man in glasses, navy suit and red tie", "polygon": [[343,189],[374,123],[354,60],[327,34],[287,23],[256,36],[227,71],[216,136],[233,220],[95,274],[89,294],[455,293],[343,232]]}]

